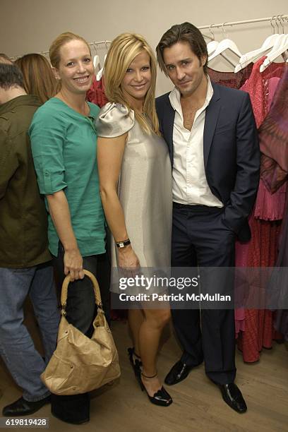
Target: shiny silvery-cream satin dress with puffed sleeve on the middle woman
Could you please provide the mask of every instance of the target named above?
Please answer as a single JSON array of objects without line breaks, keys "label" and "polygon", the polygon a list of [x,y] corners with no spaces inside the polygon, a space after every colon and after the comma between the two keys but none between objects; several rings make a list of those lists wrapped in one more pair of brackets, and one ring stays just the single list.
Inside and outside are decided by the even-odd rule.
[{"label": "shiny silvery-cream satin dress with puffed sleeve on the middle woman", "polygon": [[[118,193],[126,229],[141,268],[168,268],[171,258],[172,169],[167,144],[143,132],[134,112],[107,103],[96,121],[100,137],[128,132]],[[109,145],[109,143],[107,143]],[[112,266],[116,267],[113,241]]]}]

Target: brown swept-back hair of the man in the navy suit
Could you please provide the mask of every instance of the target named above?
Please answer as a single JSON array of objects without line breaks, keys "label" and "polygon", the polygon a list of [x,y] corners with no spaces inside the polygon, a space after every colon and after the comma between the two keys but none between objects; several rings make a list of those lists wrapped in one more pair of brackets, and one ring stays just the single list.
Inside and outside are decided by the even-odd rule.
[{"label": "brown swept-back hair of the man in the navy suit", "polygon": [[202,57],[206,56],[206,61],[203,70],[207,73],[208,52],[207,45],[200,30],[191,23],[182,23],[172,25],[167,32],[161,37],[159,44],[157,44],[156,53],[157,61],[160,69],[167,75],[163,52],[165,48],[172,47],[177,42],[188,42],[192,52],[202,61]]}]

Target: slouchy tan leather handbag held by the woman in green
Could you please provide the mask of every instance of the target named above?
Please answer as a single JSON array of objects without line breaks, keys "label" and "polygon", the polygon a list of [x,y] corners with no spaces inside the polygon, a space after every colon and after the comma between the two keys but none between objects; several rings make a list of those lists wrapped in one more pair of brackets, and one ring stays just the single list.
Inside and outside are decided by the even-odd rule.
[{"label": "slouchy tan leather handbag held by the woman in green", "polygon": [[61,321],[57,347],[47,368],[41,375],[43,383],[55,395],[76,395],[89,392],[120,376],[118,353],[102,309],[98,282],[90,277],[95,292],[98,312],[91,339],[69,324],[65,318],[67,290],[70,276],[66,276],[61,292]]}]

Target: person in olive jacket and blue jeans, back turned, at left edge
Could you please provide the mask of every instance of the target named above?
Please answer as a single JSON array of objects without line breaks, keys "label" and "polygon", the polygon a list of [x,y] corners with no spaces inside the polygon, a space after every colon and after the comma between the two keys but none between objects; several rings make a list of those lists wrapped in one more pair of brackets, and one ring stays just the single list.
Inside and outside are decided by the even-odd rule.
[{"label": "person in olive jacket and blue jeans, back turned, at left edge", "polygon": [[[40,107],[27,95],[18,66],[0,55],[0,354],[23,395],[4,416],[33,414],[50,400],[40,379],[56,347],[59,325],[47,215],[40,197],[28,128]],[[45,358],[23,324],[30,296]]]}]

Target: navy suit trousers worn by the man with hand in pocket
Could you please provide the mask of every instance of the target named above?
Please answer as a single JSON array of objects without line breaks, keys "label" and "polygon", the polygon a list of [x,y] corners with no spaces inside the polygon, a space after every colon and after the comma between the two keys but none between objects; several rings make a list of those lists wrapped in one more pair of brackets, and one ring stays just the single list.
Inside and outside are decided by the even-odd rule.
[{"label": "navy suit trousers worn by the man with hand in pocket", "polygon": [[[235,234],[223,222],[224,209],[174,203],[173,267],[233,267]],[[233,289],[233,280],[228,291]],[[233,309],[174,309],[172,319],[184,350],[181,361],[196,366],[215,383],[232,383],[235,367]]]}]

